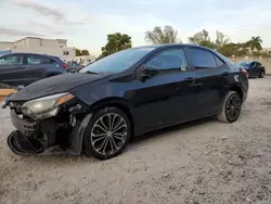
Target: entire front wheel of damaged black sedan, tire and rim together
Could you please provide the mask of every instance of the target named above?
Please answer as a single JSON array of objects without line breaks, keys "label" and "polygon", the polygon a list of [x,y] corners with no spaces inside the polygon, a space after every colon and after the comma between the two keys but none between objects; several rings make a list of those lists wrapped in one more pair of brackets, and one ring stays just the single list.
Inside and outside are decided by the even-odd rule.
[{"label": "entire front wheel of damaged black sedan, tire and rim together", "polygon": [[127,146],[131,126],[127,115],[117,107],[105,107],[94,114],[85,132],[85,152],[99,160],[120,154]]}]

